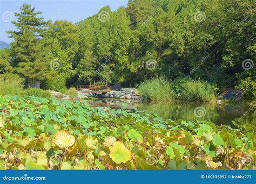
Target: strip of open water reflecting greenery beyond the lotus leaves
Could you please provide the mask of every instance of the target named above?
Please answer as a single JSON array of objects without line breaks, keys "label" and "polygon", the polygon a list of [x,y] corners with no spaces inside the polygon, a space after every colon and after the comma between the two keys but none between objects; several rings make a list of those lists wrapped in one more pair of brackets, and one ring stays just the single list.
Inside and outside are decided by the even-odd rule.
[{"label": "strip of open water reflecting greenery beyond the lotus leaves", "polygon": [[[144,102],[136,103],[129,100],[113,100],[108,98],[97,98],[87,101],[91,106],[110,107],[113,109],[125,109],[156,114],[164,119],[207,120],[217,125],[232,125],[237,123],[256,123],[255,105],[244,105],[239,103],[217,104],[217,103],[193,103],[193,102]],[[245,116],[244,116],[245,115]]]}]

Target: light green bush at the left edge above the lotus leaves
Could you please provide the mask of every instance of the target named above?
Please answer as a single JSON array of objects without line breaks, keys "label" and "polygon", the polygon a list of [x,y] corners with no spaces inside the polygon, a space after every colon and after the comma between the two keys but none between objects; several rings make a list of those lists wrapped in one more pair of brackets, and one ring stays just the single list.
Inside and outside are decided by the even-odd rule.
[{"label": "light green bush at the left edge above the lotus leaves", "polygon": [[23,87],[22,79],[16,75],[0,76],[0,95],[21,95]]}]

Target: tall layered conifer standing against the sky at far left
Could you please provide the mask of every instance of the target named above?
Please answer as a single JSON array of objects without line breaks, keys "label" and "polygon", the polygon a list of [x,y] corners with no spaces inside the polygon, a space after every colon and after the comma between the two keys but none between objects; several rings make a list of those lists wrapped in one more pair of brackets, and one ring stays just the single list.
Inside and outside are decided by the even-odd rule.
[{"label": "tall layered conifer standing against the sky at far left", "polygon": [[11,44],[11,52],[16,55],[13,65],[17,73],[25,77],[28,87],[32,81],[42,77],[47,69],[42,38],[48,22],[44,22],[42,17],[37,17],[41,13],[35,12],[35,8],[24,3],[21,13],[15,13],[18,21],[12,22],[19,31],[7,32],[14,38]]}]

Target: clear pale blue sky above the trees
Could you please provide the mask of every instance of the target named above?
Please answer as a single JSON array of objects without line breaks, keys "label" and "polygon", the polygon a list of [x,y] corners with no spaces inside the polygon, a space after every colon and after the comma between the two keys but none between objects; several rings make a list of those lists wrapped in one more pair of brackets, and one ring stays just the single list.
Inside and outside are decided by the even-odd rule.
[{"label": "clear pale blue sky above the trees", "polygon": [[15,31],[16,27],[11,20],[17,20],[15,12],[23,3],[31,4],[35,11],[41,11],[45,20],[68,20],[76,23],[95,15],[101,8],[109,5],[114,11],[119,6],[127,6],[128,0],[0,0],[0,41],[10,43],[5,31]]}]

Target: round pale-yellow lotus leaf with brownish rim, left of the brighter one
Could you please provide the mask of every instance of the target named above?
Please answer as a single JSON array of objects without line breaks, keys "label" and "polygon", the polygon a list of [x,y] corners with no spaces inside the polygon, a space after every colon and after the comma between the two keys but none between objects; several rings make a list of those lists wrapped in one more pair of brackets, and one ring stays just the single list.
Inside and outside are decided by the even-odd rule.
[{"label": "round pale-yellow lotus leaf with brownish rim, left of the brighter one", "polygon": [[75,137],[71,136],[68,131],[60,130],[56,132],[52,137],[52,143],[60,148],[68,148],[75,144]]}]

